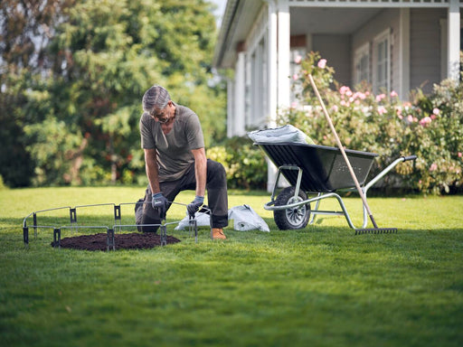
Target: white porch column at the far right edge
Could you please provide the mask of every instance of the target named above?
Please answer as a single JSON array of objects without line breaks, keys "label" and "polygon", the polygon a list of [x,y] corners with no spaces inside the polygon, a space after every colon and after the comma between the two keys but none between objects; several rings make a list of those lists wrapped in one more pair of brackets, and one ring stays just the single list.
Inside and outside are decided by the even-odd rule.
[{"label": "white porch column at the far right edge", "polygon": [[447,75],[453,80],[458,80],[459,78],[459,22],[459,1],[449,0]]}]

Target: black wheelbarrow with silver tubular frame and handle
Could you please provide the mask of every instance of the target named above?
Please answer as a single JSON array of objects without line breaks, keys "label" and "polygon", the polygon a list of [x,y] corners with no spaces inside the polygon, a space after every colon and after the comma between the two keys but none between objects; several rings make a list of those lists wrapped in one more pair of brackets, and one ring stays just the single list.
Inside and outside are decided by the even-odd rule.
[{"label": "black wheelbarrow with silver tubular frame and handle", "polygon": [[[264,209],[273,211],[275,223],[280,230],[303,229],[307,223],[312,224],[320,215],[344,215],[349,227],[356,229],[345,208],[343,199],[337,192],[355,191],[355,183],[345,159],[336,147],[325,145],[306,145],[298,143],[256,143],[278,167],[277,177],[273,186],[270,202],[264,204]],[[416,155],[401,156],[387,166],[381,173],[365,183],[378,155],[369,152],[346,149],[350,164],[354,169],[359,184],[366,197],[366,192],[373,184],[389,173],[394,166],[407,160],[416,159]],[[283,175],[290,184],[276,196],[279,176]],[[337,192],[336,192],[337,191]],[[314,196],[309,198],[309,196]],[[323,199],[335,198],[342,211],[320,211],[319,205]],[[316,202],[315,209],[310,209],[310,203]],[[310,219],[310,215],[312,218]],[[364,223],[368,222],[364,207]]]}]

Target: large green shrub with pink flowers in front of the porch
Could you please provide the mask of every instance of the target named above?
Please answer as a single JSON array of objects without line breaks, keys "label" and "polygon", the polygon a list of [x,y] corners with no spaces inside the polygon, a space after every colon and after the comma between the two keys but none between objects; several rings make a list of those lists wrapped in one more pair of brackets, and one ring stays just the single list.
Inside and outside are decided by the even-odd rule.
[{"label": "large green shrub with pink flowers in front of the porch", "polygon": [[458,192],[463,185],[463,87],[444,80],[430,97],[420,89],[403,102],[395,91],[374,95],[366,84],[341,86],[335,70],[317,52],[297,59],[293,76],[298,102],[279,114],[279,125],[291,124],[319,145],[335,145],[308,75],[317,84],[343,145],[380,155],[373,174],[401,155],[417,155],[414,162],[397,165],[385,185],[397,183],[420,192]]}]

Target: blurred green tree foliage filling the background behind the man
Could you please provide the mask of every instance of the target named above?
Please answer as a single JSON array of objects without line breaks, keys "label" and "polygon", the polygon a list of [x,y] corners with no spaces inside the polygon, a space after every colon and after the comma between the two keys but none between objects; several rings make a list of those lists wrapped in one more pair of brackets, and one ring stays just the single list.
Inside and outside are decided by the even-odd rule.
[{"label": "blurred green tree foliage filling the background behind the man", "polygon": [[[17,133],[14,147],[25,155],[21,167],[33,170],[30,182],[133,182],[144,173],[141,98],[155,83],[194,109],[206,145],[223,136],[223,87],[208,85],[212,5],[203,0],[23,3],[2,3],[1,98],[2,118]],[[32,20],[18,21],[21,28],[11,32],[14,16],[26,15]],[[7,98],[13,100],[6,103]],[[17,185],[5,174],[7,166],[0,174]]]}]

